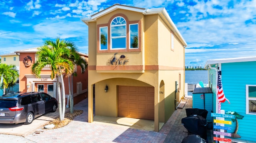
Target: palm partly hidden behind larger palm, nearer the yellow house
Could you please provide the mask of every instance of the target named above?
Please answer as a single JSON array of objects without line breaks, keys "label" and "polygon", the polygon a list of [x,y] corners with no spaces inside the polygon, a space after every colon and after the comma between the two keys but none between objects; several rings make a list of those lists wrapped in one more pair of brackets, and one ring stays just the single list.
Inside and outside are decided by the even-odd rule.
[{"label": "palm partly hidden behind larger palm, nearer the yellow house", "polygon": [[[83,57],[80,57],[78,50],[76,49],[75,45],[70,46],[71,51],[71,57],[70,60],[73,61],[75,65],[78,65],[81,67],[82,71],[84,71],[87,68],[87,61]],[[71,75],[71,83],[70,83],[70,75]],[[73,106],[74,106],[74,97],[73,97],[73,86],[70,87],[70,84],[73,85],[73,75],[76,76],[76,73],[74,71],[72,74],[68,76],[68,87],[69,87],[69,99],[70,99],[70,113],[73,113]]]}]

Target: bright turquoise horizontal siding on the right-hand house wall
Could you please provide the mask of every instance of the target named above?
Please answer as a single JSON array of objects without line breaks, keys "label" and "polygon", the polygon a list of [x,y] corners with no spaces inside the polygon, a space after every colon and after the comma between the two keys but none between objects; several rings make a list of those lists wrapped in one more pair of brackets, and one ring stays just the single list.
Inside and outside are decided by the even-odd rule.
[{"label": "bright turquoise horizontal siding on the right-hand house wall", "polygon": [[[256,61],[238,62],[238,63],[222,63],[222,88],[224,95],[230,101],[221,104],[221,109],[225,111],[235,111],[244,116],[238,119],[238,134],[241,139],[255,141],[256,140],[256,115],[246,114],[246,84],[256,85]],[[212,89],[216,97],[216,89]],[[216,105],[216,103],[214,103]],[[226,119],[229,120],[229,119]],[[228,125],[226,125],[228,126]],[[230,133],[234,132],[236,123],[232,122]]]}]

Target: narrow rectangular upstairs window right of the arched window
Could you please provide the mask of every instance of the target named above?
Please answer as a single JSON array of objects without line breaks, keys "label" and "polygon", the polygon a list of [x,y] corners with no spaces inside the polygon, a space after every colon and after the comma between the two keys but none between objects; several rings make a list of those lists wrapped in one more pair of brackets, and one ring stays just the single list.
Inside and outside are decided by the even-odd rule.
[{"label": "narrow rectangular upstairs window right of the arched window", "polygon": [[130,24],[130,48],[138,48],[139,25]]}]

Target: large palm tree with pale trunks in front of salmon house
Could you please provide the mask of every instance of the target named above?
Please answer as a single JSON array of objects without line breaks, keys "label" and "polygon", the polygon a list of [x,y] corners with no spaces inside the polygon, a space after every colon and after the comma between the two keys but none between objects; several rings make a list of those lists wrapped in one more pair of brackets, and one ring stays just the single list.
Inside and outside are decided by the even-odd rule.
[{"label": "large palm tree with pale trunks in front of salmon house", "polygon": [[[69,75],[73,72],[74,64],[69,59],[71,56],[71,51],[68,48],[72,47],[73,45],[74,44],[72,42],[60,40],[59,37],[56,38],[56,41],[46,40],[44,45],[40,47],[36,53],[38,55],[38,60],[36,63],[34,63],[34,65],[32,65],[32,73],[37,78],[40,78],[41,70],[46,65],[50,65],[50,77],[51,79],[56,77],[57,80],[60,121],[62,121],[65,116],[65,86],[62,74],[64,71],[66,72],[66,75]],[[61,80],[62,92],[60,90],[59,76]]]}]

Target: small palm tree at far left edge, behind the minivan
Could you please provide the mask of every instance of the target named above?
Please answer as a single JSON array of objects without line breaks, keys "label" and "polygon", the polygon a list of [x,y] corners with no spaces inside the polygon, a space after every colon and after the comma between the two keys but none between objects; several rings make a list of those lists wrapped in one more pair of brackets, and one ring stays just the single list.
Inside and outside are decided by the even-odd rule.
[{"label": "small palm tree at far left edge, behind the minivan", "polygon": [[0,84],[2,84],[3,94],[6,88],[15,84],[19,77],[18,70],[15,65],[0,64]]}]

